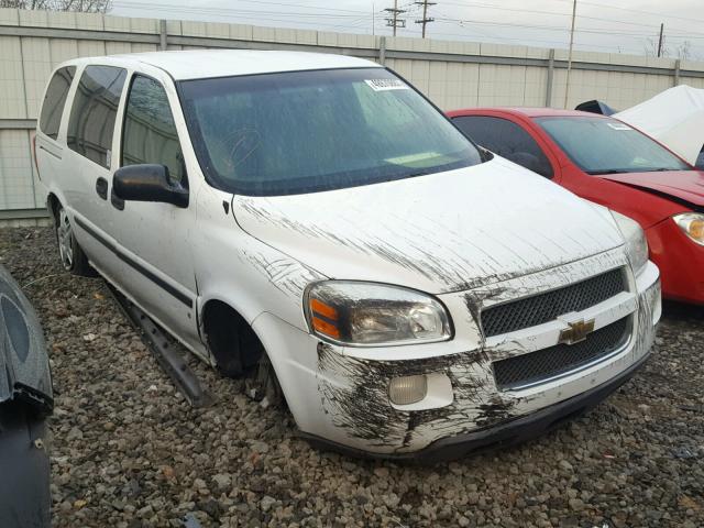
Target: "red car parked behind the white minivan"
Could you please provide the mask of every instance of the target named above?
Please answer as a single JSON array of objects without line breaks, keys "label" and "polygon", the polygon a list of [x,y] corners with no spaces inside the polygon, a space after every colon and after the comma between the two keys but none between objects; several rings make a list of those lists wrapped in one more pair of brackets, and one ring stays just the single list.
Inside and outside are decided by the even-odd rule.
[{"label": "red car parked behind the white minivan", "polygon": [[605,116],[549,108],[448,114],[485,148],[638,221],[663,296],[704,304],[704,172]]}]

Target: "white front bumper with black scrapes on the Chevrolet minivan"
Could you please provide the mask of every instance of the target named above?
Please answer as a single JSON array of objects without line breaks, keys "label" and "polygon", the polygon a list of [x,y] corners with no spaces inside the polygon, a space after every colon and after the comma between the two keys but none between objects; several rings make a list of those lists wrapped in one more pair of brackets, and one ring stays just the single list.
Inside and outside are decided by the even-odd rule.
[{"label": "white front bumper with black scrapes on the Chevrolet minivan", "polygon": [[[351,349],[322,343],[288,324],[272,327],[273,316],[254,327],[264,340],[277,337],[278,342],[264,343],[266,350],[286,351],[285,358],[270,355],[306,438],[381,458],[432,460],[441,455],[419,453],[438,450],[452,458],[485,444],[522,441],[606,397],[649,353],[661,311],[660,283],[649,263],[638,277],[628,273],[628,293],[580,314],[594,317],[597,327],[629,317],[632,332],[626,345],[603,361],[527,388],[499,389],[493,362],[556,344],[557,323],[483,339],[476,322],[481,314],[472,307],[562,287],[619,266],[627,266],[623,252],[607,252],[564,268],[442,296],[455,327],[454,339],[442,343]],[[430,405],[391,404],[393,377],[432,373],[449,378],[450,398],[429,388]]]}]

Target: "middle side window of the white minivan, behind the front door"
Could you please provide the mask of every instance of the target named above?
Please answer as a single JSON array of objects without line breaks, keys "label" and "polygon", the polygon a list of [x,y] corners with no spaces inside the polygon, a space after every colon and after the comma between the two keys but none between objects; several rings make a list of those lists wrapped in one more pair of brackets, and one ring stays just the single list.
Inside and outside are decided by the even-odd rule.
[{"label": "middle side window of the white minivan, behind the front door", "polygon": [[125,76],[122,68],[86,67],[68,120],[68,147],[108,168],[114,118]]}]

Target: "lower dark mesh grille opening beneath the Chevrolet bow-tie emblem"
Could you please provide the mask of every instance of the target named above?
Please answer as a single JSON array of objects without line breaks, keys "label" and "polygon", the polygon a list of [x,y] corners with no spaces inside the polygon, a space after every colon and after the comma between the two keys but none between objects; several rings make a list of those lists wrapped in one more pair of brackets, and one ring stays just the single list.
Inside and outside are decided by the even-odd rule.
[{"label": "lower dark mesh grille opening beneath the Chevrolet bow-tie emblem", "polygon": [[630,316],[600,328],[574,344],[557,344],[493,364],[501,389],[516,388],[573,371],[620,349],[628,340]]}]

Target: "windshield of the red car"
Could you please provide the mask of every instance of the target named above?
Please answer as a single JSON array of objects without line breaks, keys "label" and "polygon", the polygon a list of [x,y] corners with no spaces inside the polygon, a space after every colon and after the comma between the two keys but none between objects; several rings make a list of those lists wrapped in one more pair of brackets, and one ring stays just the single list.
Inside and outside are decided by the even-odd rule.
[{"label": "windshield of the red car", "polygon": [[659,143],[609,118],[538,118],[538,124],[587,174],[691,170]]}]

